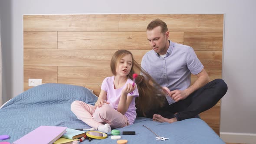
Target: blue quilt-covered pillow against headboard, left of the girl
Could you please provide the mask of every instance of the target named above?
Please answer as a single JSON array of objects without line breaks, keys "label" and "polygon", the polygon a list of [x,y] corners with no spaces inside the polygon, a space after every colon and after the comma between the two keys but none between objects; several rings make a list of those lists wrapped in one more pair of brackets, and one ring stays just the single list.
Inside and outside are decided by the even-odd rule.
[{"label": "blue quilt-covered pillow against headboard, left of the girl", "polygon": [[48,83],[30,88],[20,95],[17,95],[4,105],[3,108],[14,102],[20,104],[22,107],[29,107],[31,105],[71,105],[75,100],[94,105],[97,99],[98,97],[88,88],[82,86]]}]

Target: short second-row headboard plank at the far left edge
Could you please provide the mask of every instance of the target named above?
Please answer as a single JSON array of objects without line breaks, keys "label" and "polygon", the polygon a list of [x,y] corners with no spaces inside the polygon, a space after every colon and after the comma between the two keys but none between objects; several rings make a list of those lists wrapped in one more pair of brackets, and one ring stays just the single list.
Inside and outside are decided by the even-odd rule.
[{"label": "short second-row headboard plank at the far left edge", "polygon": [[57,49],[57,32],[24,32],[24,49]]}]

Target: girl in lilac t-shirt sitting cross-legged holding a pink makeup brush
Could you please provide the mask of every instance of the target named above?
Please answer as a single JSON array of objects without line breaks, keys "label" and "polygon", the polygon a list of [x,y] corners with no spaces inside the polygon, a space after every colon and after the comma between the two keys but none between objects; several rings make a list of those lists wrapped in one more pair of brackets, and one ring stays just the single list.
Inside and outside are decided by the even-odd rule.
[{"label": "girl in lilac t-shirt sitting cross-legged holding a pink makeup brush", "polygon": [[71,111],[83,122],[102,132],[133,124],[136,118],[135,97],[137,85],[132,86],[134,59],[131,52],[118,50],[112,56],[110,67],[114,76],[103,80],[95,106],[74,101]]}]

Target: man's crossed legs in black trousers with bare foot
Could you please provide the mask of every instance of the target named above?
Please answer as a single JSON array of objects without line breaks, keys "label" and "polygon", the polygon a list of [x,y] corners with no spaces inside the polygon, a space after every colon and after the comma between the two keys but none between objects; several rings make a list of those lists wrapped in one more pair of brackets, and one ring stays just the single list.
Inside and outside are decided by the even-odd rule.
[{"label": "man's crossed legs in black trousers with bare foot", "polygon": [[[227,85],[222,79],[215,79],[197,91],[190,94],[186,99],[172,105],[167,105],[161,110],[171,111],[173,118],[165,118],[163,115],[154,114],[153,121],[172,123],[188,118],[194,118],[203,111],[212,108],[226,94]],[[160,111],[161,111],[160,110]]]}]

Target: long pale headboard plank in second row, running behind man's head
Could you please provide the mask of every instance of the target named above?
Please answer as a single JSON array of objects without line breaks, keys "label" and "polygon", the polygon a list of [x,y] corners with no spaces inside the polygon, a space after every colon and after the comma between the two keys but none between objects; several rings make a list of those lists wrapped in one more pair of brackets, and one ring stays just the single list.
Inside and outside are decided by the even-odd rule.
[{"label": "long pale headboard plank in second row, running behind man's head", "polygon": [[[170,33],[184,43],[183,32]],[[58,32],[58,49],[151,49],[146,32]]]}]

